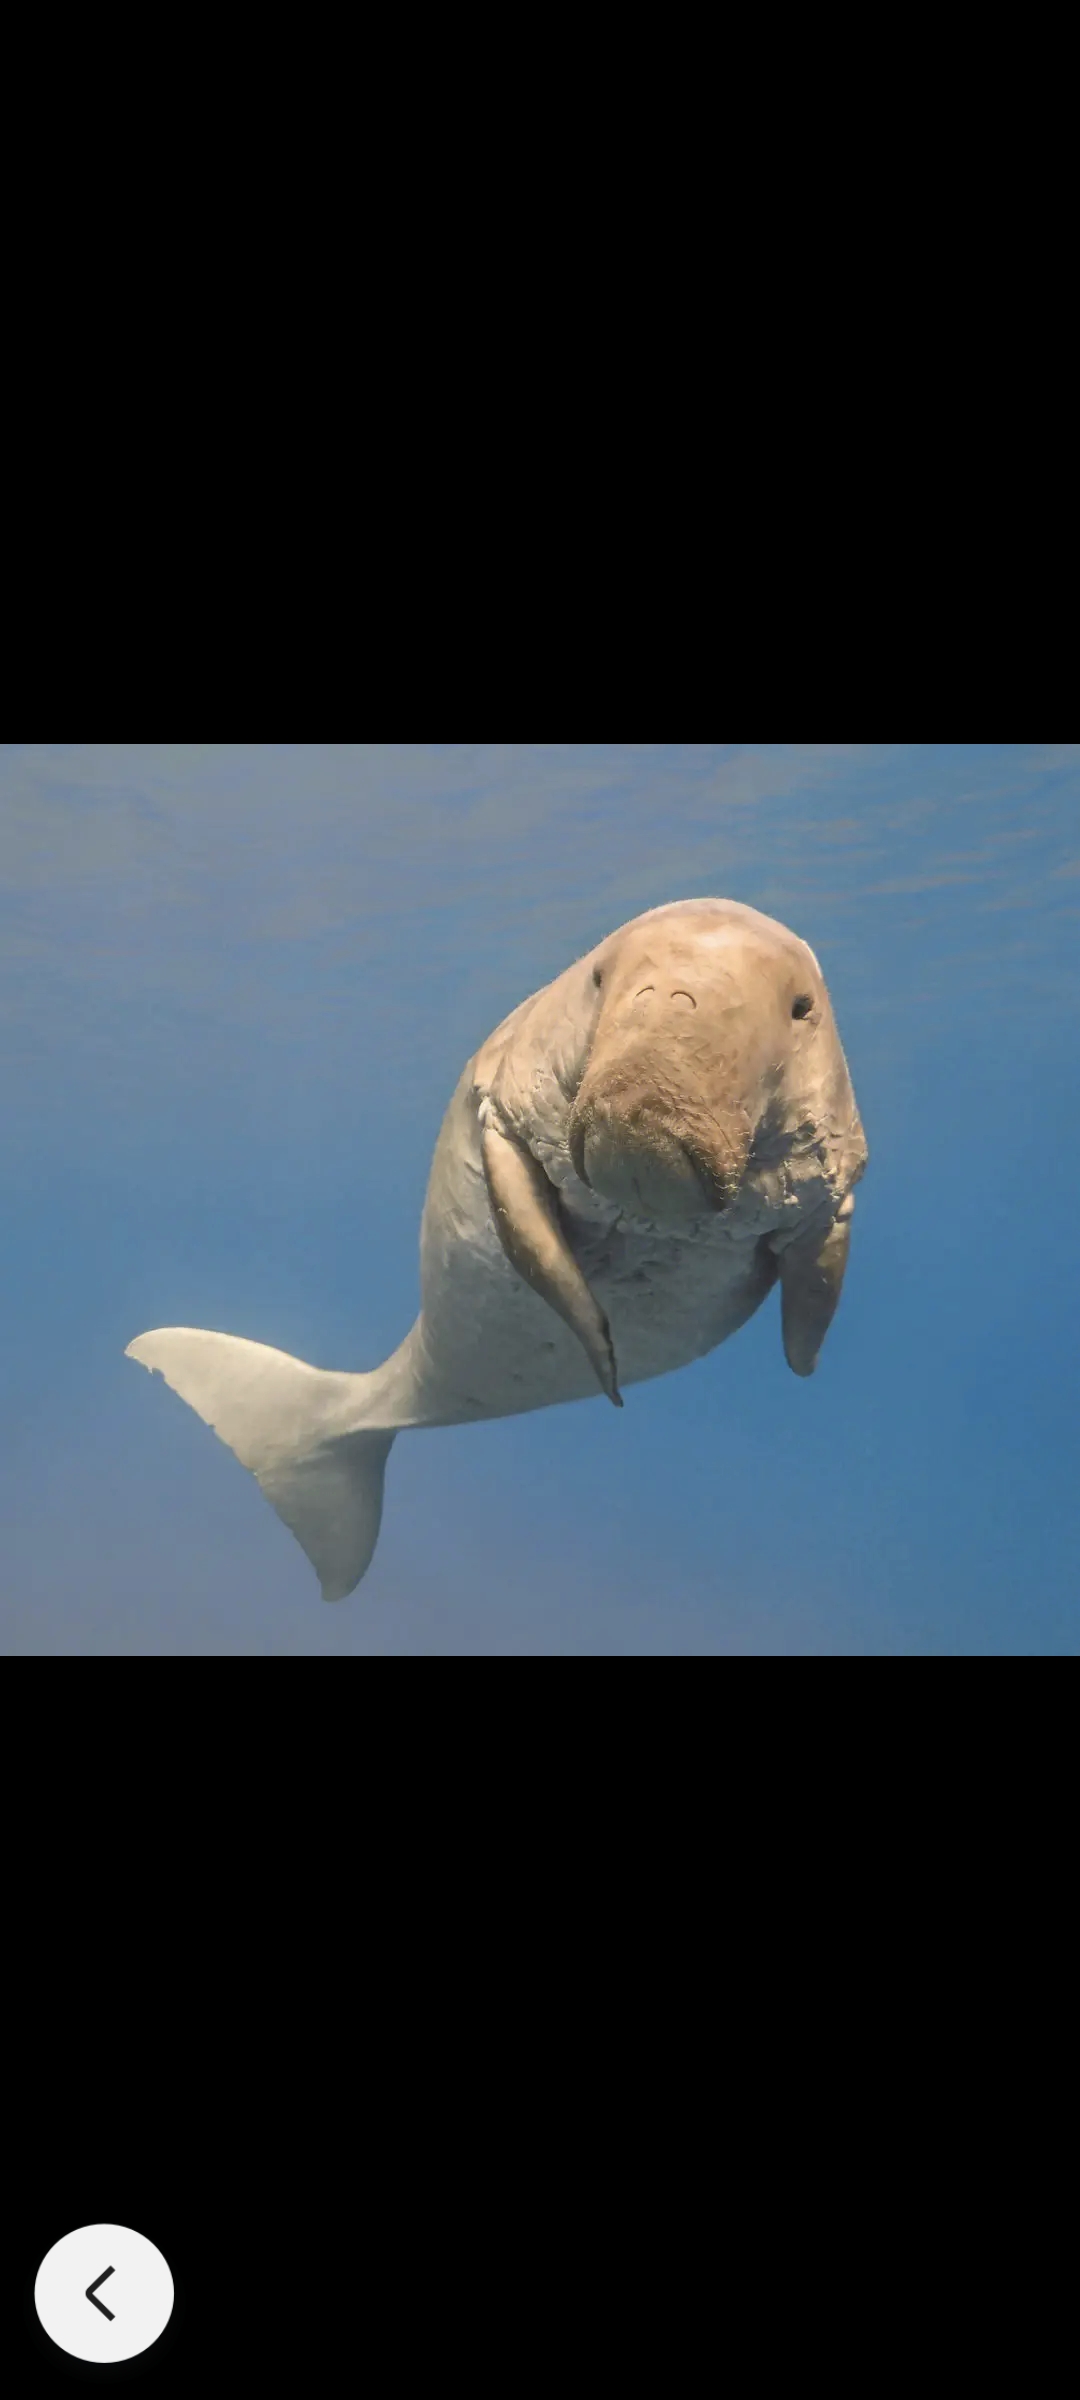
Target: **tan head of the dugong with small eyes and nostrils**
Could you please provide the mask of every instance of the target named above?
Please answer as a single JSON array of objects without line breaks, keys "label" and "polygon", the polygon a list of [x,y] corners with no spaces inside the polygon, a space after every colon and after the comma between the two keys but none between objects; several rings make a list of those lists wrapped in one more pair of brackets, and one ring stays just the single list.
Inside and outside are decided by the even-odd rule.
[{"label": "tan head of the dugong with small eyes and nostrils", "polygon": [[566,1138],[581,1181],[626,1214],[677,1224],[727,1210],[761,1142],[782,1150],[799,1128],[833,1126],[842,1138],[852,1123],[821,967],[773,917],[679,900],[600,943],[590,977]]}]

